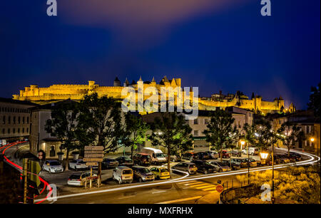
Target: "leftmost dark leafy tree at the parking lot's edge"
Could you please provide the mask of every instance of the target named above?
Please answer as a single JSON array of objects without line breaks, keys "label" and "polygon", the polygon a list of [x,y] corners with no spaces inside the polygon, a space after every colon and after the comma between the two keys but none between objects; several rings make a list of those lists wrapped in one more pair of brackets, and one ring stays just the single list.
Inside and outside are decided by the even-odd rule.
[{"label": "leftmost dark leafy tree at the parking lot's edge", "polygon": [[66,149],[65,170],[68,170],[69,152],[81,147],[75,134],[78,114],[78,103],[66,100],[56,103],[51,110],[51,119],[46,120],[46,132],[61,141],[61,149]]}]

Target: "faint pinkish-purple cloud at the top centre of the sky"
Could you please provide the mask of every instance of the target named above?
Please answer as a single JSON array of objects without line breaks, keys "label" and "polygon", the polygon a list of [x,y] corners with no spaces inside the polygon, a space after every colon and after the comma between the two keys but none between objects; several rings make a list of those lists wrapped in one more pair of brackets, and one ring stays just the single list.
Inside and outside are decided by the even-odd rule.
[{"label": "faint pinkish-purple cloud at the top centre of the sky", "polygon": [[135,42],[158,38],[173,24],[245,1],[248,0],[68,0],[58,1],[58,16],[73,25],[108,28],[115,38],[130,37]]}]

